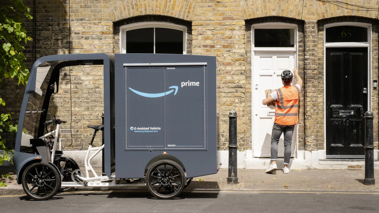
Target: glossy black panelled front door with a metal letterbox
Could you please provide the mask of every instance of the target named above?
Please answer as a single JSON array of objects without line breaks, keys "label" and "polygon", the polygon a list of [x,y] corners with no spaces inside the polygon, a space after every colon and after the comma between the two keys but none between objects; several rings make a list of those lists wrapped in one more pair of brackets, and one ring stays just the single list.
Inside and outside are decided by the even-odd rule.
[{"label": "glossy black panelled front door with a metal letterbox", "polygon": [[326,157],[364,157],[367,48],[326,48]]}]

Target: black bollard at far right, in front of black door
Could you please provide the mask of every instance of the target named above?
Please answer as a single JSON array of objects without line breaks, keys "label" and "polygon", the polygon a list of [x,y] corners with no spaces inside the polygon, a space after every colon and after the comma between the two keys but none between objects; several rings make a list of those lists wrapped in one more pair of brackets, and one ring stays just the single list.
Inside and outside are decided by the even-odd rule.
[{"label": "black bollard at far right, in front of black door", "polygon": [[363,180],[365,185],[375,185],[373,119],[373,112],[367,111],[365,113],[365,179]]}]

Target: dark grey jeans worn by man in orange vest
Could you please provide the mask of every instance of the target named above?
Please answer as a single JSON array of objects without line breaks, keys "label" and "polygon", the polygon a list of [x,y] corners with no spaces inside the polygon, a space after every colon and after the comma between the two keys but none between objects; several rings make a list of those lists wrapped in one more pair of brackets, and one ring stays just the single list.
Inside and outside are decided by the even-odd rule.
[{"label": "dark grey jeans worn by man in orange vest", "polygon": [[273,133],[271,134],[271,161],[278,160],[278,143],[282,133],[284,133],[284,164],[290,164],[291,143],[295,125],[280,125],[274,123]]}]

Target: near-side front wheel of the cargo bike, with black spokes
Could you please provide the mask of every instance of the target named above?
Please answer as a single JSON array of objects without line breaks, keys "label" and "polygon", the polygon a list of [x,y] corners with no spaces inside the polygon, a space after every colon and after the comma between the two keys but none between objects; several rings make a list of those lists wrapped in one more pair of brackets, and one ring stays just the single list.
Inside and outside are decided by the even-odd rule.
[{"label": "near-side front wheel of the cargo bike, with black spokes", "polygon": [[50,199],[56,194],[60,186],[61,175],[49,163],[33,163],[22,174],[23,190],[31,199],[36,201]]}]

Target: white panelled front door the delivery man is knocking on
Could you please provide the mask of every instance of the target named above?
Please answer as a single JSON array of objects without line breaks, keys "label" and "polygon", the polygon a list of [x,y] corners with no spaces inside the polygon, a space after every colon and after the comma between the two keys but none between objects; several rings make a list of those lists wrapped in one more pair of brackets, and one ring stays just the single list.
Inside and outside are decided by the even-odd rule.
[{"label": "white panelled front door the delivery man is knocking on", "polygon": [[[294,51],[255,51],[253,62],[253,147],[254,157],[271,157],[271,132],[273,130],[275,110],[262,104],[265,90],[283,87],[280,74],[283,70],[293,70]],[[294,85],[294,83],[293,83]],[[296,145],[296,131],[292,139],[293,157]],[[284,156],[283,134],[279,140],[278,157]]]}]

